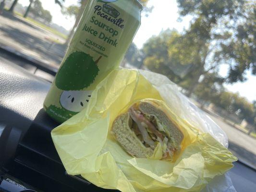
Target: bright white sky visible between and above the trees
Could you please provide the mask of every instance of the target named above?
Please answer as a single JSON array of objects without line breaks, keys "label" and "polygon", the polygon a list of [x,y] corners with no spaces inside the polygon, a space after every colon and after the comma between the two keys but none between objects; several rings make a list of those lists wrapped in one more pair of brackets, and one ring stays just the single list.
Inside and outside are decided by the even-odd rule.
[{"label": "bright white sky visible between and above the trees", "polygon": [[[19,0],[21,4],[27,6],[29,0]],[[53,16],[53,23],[59,24],[71,29],[74,24],[74,18],[67,18],[61,14],[59,5],[53,3],[54,0],[41,0],[44,9],[49,10]],[[77,4],[77,0],[65,0],[64,6]],[[149,0],[148,6],[154,6],[153,11],[148,17],[142,17],[141,26],[134,37],[134,43],[138,48],[142,48],[148,38],[158,35],[162,30],[175,28],[179,32],[189,27],[191,17],[183,18],[182,22],[178,22],[178,7],[176,0]],[[228,66],[220,67],[220,74],[226,76]],[[224,86],[232,91],[238,92],[241,96],[246,97],[249,101],[256,100],[256,76],[246,73],[248,80],[244,83],[225,84]]]}]

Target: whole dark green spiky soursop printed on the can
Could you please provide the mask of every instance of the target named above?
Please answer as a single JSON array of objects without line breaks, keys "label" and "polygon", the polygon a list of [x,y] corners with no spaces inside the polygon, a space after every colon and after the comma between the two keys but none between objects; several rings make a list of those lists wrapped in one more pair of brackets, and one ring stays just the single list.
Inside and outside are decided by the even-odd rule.
[{"label": "whole dark green spiky soursop printed on the can", "polygon": [[82,90],[94,82],[98,72],[97,63],[90,55],[76,51],[64,61],[55,83],[62,90]]}]

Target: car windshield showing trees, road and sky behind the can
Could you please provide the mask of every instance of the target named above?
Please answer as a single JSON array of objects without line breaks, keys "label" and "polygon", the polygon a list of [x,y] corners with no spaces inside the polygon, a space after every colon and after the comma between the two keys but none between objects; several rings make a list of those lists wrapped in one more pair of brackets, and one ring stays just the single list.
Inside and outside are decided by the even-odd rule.
[{"label": "car windshield showing trees, road and sky behind the can", "polygon": [[[52,82],[87,2],[0,0],[0,61]],[[255,1],[141,3],[141,26],[121,66],[166,75],[256,168]]]}]

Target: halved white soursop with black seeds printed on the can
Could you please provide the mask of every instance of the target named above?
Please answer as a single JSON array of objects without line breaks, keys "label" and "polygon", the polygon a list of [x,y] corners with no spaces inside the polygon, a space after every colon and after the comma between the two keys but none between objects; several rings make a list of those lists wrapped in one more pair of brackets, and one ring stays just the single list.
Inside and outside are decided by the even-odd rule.
[{"label": "halved white soursop with black seeds printed on the can", "polygon": [[61,106],[67,110],[80,112],[91,97],[92,91],[63,91],[61,94]]}]

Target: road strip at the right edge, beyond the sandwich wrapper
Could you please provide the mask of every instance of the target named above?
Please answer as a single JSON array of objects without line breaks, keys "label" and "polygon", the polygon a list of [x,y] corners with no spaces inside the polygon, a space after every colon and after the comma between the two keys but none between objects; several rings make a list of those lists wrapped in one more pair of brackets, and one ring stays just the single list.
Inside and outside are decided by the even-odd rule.
[{"label": "road strip at the right edge, beyond the sandwich wrapper", "polygon": [[219,127],[226,132],[229,149],[242,162],[256,169],[256,139],[230,126],[217,116],[207,114]]}]

